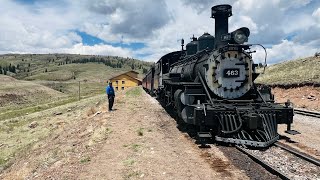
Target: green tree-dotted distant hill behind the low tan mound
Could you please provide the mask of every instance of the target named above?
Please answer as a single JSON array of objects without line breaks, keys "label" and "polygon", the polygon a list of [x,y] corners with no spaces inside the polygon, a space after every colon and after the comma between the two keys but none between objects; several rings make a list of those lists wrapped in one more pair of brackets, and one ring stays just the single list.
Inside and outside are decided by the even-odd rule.
[{"label": "green tree-dotted distant hill behind the low tan mound", "polygon": [[102,93],[106,81],[129,70],[142,79],[151,62],[118,56],[77,54],[5,54],[0,55],[0,74],[28,80],[74,96],[78,82],[82,96]]}]

